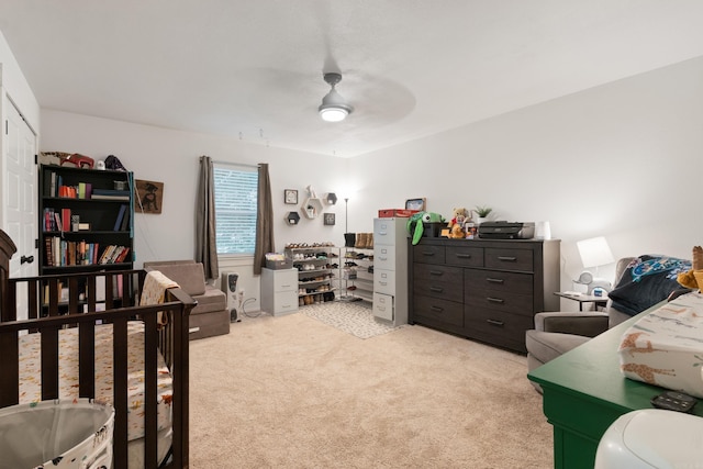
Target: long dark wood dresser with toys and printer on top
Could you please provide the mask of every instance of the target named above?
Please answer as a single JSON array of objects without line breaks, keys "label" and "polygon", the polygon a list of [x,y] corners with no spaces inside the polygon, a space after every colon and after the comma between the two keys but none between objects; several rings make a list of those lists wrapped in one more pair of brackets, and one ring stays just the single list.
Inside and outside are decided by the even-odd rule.
[{"label": "long dark wood dresser with toys and printer on top", "polygon": [[409,322],[525,354],[535,313],[559,309],[559,245],[423,237],[409,246]]}]

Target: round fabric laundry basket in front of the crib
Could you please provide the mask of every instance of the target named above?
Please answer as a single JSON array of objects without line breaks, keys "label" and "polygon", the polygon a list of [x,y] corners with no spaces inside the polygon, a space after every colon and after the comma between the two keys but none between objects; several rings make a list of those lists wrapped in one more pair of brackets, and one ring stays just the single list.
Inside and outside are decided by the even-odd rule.
[{"label": "round fabric laundry basket in front of the crib", "polygon": [[114,409],[92,399],[0,409],[0,469],[111,469]]}]

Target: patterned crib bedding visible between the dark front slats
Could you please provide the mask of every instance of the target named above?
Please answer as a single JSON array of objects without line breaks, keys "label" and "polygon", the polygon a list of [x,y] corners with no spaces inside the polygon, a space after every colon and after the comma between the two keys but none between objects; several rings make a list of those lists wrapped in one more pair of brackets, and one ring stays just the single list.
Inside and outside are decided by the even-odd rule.
[{"label": "patterned crib bedding visible between the dark front slats", "polygon": [[[144,436],[144,324],[127,323],[127,439]],[[59,399],[78,398],[78,328],[59,331]],[[158,356],[158,429],[171,426],[172,381],[164,358]],[[20,403],[42,400],[41,336],[20,337]],[[96,399],[112,402],[112,326],[96,326]]]}]

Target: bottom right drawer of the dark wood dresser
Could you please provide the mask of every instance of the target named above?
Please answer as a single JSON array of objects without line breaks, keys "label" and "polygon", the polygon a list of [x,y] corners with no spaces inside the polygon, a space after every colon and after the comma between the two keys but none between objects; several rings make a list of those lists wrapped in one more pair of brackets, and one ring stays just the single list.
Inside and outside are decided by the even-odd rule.
[{"label": "bottom right drawer of the dark wood dresser", "polygon": [[534,327],[532,315],[466,306],[466,334],[478,340],[525,353],[525,331]]}]

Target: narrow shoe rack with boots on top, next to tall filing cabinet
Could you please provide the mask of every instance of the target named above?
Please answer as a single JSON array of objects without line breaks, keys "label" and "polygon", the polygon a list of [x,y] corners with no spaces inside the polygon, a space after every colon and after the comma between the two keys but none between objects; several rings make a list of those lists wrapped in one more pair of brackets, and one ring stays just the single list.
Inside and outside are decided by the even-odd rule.
[{"label": "narrow shoe rack with boots on top, next to tall filing cabinet", "polygon": [[373,233],[356,233],[346,246],[342,270],[344,301],[373,302]]}]

